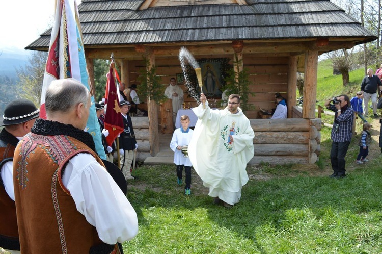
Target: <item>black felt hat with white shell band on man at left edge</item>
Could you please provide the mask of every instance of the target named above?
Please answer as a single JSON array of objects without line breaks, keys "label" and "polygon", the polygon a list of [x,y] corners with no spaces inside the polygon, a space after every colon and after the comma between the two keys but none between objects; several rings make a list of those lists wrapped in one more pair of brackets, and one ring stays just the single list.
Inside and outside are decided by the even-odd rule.
[{"label": "black felt hat with white shell band on man at left edge", "polygon": [[0,126],[14,125],[29,121],[39,116],[40,110],[28,99],[12,100],[5,107],[4,115],[0,119]]}]

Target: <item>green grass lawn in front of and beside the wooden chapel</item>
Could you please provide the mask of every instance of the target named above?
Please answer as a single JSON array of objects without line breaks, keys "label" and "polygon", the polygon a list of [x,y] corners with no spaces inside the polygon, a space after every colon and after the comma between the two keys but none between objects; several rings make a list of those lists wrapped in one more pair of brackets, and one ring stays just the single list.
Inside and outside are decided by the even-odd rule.
[{"label": "green grass lawn in front of and beside the wooden chapel", "polygon": [[[329,70],[330,69],[330,70]],[[359,90],[363,70],[341,76],[319,65],[317,98]],[[350,94],[352,97],[352,94]],[[326,117],[333,121],[333,116]],[[357,120],[357,132],[361,131]],[[373,124],[367,164],[357,165],[359,134],[347,153],[345,179],[328,177],[330,129],[321,130],[321,154],[314,165],[248,166],[250,181],[232,209],[212,204],[193,171],[192,195],[176,184],[175,166],[143,166],[129,182],[128,199],[139,217],[137,237],[127,253],[381,253],[382,170],[379,122]]]}]

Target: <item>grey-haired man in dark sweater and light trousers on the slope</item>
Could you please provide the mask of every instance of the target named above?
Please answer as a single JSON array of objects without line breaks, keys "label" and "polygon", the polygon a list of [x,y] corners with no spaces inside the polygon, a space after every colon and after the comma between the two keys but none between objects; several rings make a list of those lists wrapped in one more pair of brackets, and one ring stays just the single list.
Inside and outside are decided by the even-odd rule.
[{"label": "grey-haired man in dark sweater and light trousers on the slope", "polygon": [[369,112],[369,99],[371,98],[371,104],[373,106],[373,116],[377,115],[377,90],[381,91],[382,82],[377,75],[373,75],[373,69],[367,69],[367,76],[362,80],[361,91],[364,96],[364,117],[368,116]]}]

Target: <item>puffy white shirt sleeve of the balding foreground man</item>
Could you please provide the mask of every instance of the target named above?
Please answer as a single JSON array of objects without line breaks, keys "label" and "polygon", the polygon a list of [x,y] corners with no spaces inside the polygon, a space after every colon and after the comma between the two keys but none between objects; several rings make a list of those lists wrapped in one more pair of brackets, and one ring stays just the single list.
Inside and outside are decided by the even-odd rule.
[{"label": "puffy white shirt sleeve of the balding foreground man", "polygon": [[138,218],[112,176],[90,154],[70,159],[62,177],[78,212],[96,227],[107,244],[123,243],[138,234]]}]

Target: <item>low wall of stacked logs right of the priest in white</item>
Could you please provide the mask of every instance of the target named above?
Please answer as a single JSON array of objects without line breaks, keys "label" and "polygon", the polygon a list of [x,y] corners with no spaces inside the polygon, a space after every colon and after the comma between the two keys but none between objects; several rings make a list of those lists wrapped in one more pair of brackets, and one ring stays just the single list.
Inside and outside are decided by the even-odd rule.
[{"label": "low wall of stacked logs right of the priest in white", "polygon": [[320,153],[321,119],[251,119],[255,154],[249,164],[313,164]]}]

